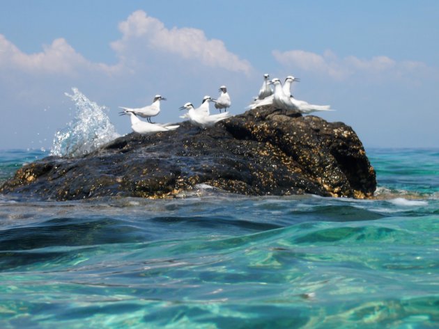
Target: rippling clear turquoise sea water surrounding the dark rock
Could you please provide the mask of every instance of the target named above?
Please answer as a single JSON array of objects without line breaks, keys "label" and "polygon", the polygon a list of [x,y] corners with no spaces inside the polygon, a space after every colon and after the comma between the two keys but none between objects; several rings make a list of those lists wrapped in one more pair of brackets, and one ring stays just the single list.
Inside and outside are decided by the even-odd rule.
[{"label": "rippling clear turquoise sea water surrounding the dark rock", "polygon": [[376,200],[0,195],[0,328],[438,328],[439,150],[367,154]]}]

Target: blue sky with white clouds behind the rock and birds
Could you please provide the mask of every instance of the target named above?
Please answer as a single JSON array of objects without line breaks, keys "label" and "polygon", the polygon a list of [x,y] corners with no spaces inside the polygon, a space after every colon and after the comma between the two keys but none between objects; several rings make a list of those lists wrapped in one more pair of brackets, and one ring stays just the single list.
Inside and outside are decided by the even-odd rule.
[{"label": "blue sky with white clouds behind the rock and birds", "polygon": [[216,97],[245,111],[263,74],[337,111],[366,147],[439,146],[439,1],[3,0],[0,149],[49,148],[77,87],[109,108],[167,97],[157,122]]}]

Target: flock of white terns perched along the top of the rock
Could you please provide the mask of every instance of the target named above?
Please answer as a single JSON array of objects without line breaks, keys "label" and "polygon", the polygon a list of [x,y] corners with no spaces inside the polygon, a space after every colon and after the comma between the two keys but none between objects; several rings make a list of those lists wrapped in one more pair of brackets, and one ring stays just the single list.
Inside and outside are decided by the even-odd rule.
[{"label": "flock of white terns perched along the top of the rock", "polygon": [[[258,97],[254,97],[252,104],[247,106],[247,109],[257,109],[260,106],[273,105],[277,109],[284,111],[294,110],[299,113],[309,114],[316,111],[333,111],[329,105],[314,105],[308,102],[295,99],[291,95],[291,86],[294,81],[299,79],[288,76],[285,79],[284,86],[279,79],[272,79],[270,81],[268,74],[263,75],[263,84],[259,90]],[[274,90],[272,88],[274,86]],[[231,106],[230,95],[227,93],[226,86],[219,87],[219,97],[213,99],[210,96],[204,96],[203,102],[198,108],[190,102],[180,107],[180,110],[187,110],[187,113],[180,116],[180,118],[188,119],[192,125],[205,129],[215,125],[215,123],[231,117],[227,109]],[[180,127],[179,125],[160,124],[151,122],[151,118],[160,113],[160,101],[166,100],[161,95],[155,95],[153,104],[139,108],[131,109],[129,107],[120,106],[123,111],[121,115],[130,115],[131,128],[134,132],[139,134],[153,134],[159,131],[171,131]],[[210,102],[215,104],[215,109],[219,109],[218,114],[210,114]],[[224,112],[222,112],[224,109]],[[140,118],[146,118],[146,121]]]}]

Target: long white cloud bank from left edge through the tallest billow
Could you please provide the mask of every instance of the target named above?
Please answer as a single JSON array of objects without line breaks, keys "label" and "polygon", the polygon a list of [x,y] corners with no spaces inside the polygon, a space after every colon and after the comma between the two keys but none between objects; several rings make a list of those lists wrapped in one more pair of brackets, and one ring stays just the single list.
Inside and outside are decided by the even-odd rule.
[{"label": "long white cloud bank from left edge through the tallest billow", "polygon": [[[0,34],[0,70],[17,70],[31,74],[64,74],[77,76],[79,72],[97,71],[105,74],[136,72],[135,63],[144,65],[160,61],[191,61],[195,66],[224,69],[249,74],[252,65],[226,49],[224,42],[208,39],[203,31],[192,28],[172,28],[142,10],[119,24],[122,37],[111,43],[119,63],[106,65],[88,61],[68,42],[59,38],[43,51],[26,54]],[[157,63],[156,63],[157,64]],[[172,63],[167,63],[167,66]]]}]

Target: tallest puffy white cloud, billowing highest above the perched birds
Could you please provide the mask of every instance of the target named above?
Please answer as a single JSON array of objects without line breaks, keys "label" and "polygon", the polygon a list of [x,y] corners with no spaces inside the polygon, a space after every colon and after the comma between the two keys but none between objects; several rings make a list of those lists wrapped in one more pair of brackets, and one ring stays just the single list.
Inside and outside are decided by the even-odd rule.
[{"label": "tallest puffy white cloud, billowing highest above the perched birds", "polygon": [[208,39],[199,29],[167,29],[159,19],[148,16],[143,10],[137,10],[121,22],[119,30],[123,36],[112,42],[111,47],[120,58],[130,56],[130,50],[140,44],[150,51],[174,54],[209,67],[245,74],[252,70],[252,65],[228,51],[222,40]]}]

